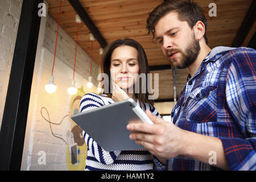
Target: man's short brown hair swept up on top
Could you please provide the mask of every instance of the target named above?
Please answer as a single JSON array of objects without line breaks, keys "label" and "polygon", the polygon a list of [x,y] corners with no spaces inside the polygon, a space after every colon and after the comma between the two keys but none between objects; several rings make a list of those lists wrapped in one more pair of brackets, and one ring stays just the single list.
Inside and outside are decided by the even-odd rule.
[{"label": "man's short brown hair swept up on top", "polygon": [[192,29],[195,26],[197,21],[201,21],[205,26],[204,39],[208,44],[207,40],[207,19],[204,16],[203,10],[196,3],[188,0],[188,1],[177,1],[177,0],[169,0],[164,1],[162,4],[157,6],[148,16],[147,18],[147,30],[148,34],[150,32],[153,35],[153,39],[155,38],[155,24],[167,13],[171,11],[178,13],[178,18],[180,21],[188,22],[188,26]]}]

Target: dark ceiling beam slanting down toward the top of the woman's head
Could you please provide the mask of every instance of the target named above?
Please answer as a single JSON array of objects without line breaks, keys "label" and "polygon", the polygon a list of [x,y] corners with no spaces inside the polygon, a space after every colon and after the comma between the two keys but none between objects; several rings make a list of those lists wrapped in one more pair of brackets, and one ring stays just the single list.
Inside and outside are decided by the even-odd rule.
[{"label": "dark ceiling beam slanting down toward the top of the woman's head", "polygon": [[90,19],[90,16],[86,13],[81,3],[78,0],[68,0],[68,2],[71,4],[76,13],[80,16],[82,21],[86,24],[90,32],[93,34],[94,38],[98,41],[98,43],[100,43],[101,47],[105,48],[108,45],[106,43],[106,40],[101,35],[100,31],[98,31],[98,28],[95,26],[92,19]]}]

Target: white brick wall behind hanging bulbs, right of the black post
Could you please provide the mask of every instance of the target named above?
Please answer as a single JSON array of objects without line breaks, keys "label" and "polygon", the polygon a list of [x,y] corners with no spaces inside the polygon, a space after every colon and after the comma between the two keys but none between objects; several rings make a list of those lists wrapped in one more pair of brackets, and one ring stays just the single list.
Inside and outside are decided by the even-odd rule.
[{"label": "white brick wall behind hanging bulbs, right of the black post", "polygon": [[[71,96],[67,93],[67,89],[71,86],[73,78],[76,42],[61,27],[59,27],[56,60],[53,71],[57,90],[53,94],[48,94],[44,90],[44,85],[49,81],[52,71],[56,29],[56,20],[50,15],[47,15],[44,39],[42,41],[42,48],[44,49],[43,59],[37,59],[35,62],[24,145],[25,152],[23,151],[26,156],[23,155],[22,170],[68,169],[69,162],[67,158],[69,154],[67,154],[67,144],[52,135],[49,123],[43,119],[40,113],[40,109],[46,107],[49,111],[50,121],[59,123],[68,114],[71,102]],[[75,73],[76,87],[80,88],[83,86],[85,92],[97,92],[97,76],[100,73],[100,65],[93,61],[92,77],[94,86],[90,90],[86,88],[89,67],[90,56],[78,46]],[[44,117],[48,118],[46,113],[44,113]],[[53,133],[67,142],[66,133],[72,129],[74,125],[72,122],[70,118],[65,117],[61,125],[51,125]],[[39,151],[46,152],[45,165],[38,164],[38,159],[40,158],[38,155]],[[82,164],[82,161],[80,164]],[[71,165],[69,163],[69,166]]]}]

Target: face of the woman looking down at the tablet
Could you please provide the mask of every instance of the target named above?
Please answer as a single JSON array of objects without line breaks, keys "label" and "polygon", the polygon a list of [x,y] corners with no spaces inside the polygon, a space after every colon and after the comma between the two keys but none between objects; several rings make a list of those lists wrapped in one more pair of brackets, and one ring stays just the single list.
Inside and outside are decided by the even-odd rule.
[{"label": "face of the woman looking down at the tablet", "polygon": [[[136,74],[137,73],[137,74]],[[138,78],[138,51],[134,47],[120,46],[114,49],[110,61],[112,80],[121,88],[128,89]]]}]

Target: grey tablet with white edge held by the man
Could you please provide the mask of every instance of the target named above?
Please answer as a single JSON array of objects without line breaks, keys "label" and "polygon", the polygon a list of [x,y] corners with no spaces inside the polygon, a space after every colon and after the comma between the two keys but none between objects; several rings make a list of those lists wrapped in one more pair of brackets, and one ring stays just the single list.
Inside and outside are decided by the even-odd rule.
[{"label": "grey tablet with white edge held by the man", "polygon": [[71,115],[71,119],[106,151],[144,148],[130,140],[126,126],[130,122],[153,124],[132,98]]}]

